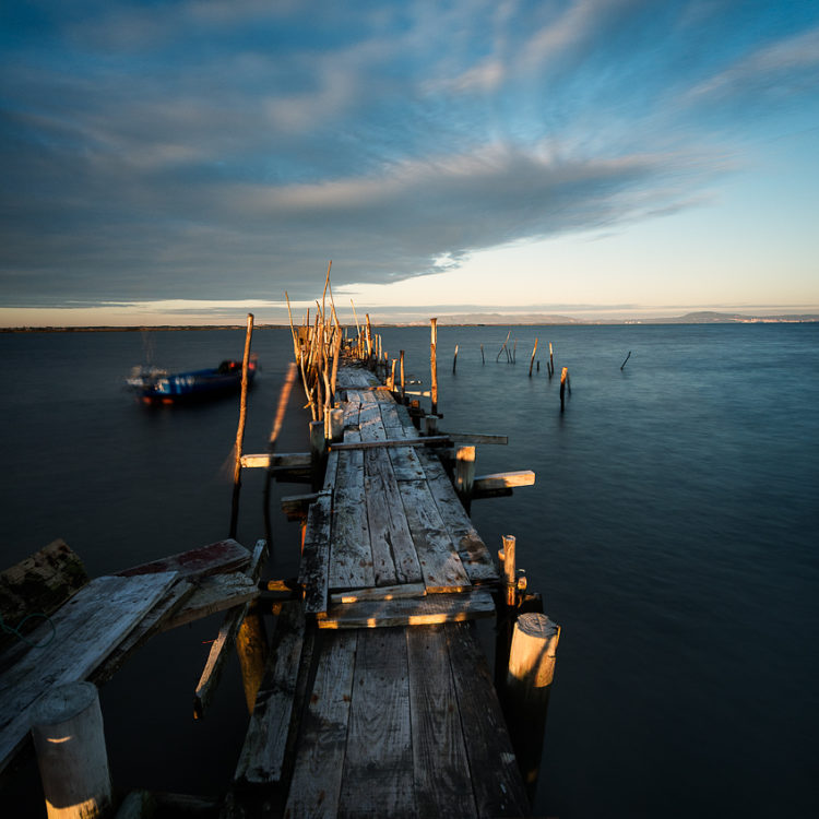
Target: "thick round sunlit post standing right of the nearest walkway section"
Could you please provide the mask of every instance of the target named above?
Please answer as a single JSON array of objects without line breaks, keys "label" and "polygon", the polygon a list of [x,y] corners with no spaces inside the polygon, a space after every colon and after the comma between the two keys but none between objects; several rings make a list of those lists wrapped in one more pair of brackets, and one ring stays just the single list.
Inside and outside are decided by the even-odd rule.
[{"label": "thick round sunlit post standing right of the nearest walkway section", "polygon": [[523,614],[514,624],[506,685],[506,713],[523,781],[534,795],[560,627],[546,615]]}]

